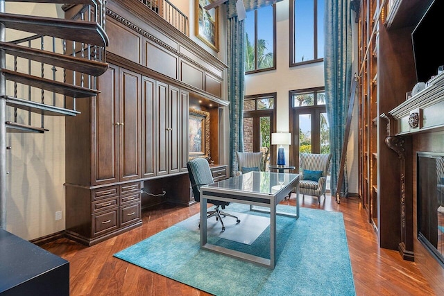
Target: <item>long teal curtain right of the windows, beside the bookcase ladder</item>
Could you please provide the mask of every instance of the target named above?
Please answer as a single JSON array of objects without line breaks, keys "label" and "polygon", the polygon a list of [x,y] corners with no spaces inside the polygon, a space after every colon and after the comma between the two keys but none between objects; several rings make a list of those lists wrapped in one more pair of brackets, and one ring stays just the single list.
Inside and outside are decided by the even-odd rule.
[{"label": "long teal curtain right of the windows, beside the bookcase ladder", "polygon": [[[352,84],[352,13],[350,0],[325,1],[325,107],[330,123],[332,152],[330,188],[336,195],[345,123]],[[344,171],[341,196],[348,195],[348,177]]]}]

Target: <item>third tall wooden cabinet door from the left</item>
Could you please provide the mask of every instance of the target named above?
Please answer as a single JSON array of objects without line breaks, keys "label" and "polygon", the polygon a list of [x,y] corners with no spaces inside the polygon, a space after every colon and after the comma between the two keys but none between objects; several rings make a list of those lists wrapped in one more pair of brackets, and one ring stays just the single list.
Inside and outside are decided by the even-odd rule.
[{"label": "third tall wooden cabinet door from the left", "polygon": [[142,177],[155,175],[155,80],[142,77]]}]

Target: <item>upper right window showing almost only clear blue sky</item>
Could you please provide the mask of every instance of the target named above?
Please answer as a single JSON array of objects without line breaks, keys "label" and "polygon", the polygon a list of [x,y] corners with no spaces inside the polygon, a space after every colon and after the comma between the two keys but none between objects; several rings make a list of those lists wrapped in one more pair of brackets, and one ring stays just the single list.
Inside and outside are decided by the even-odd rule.
[{"label": "upper right window showing almost only clear blue sky", "polygon": [[324,0],[290,0],[290,66],[324,58]]}]

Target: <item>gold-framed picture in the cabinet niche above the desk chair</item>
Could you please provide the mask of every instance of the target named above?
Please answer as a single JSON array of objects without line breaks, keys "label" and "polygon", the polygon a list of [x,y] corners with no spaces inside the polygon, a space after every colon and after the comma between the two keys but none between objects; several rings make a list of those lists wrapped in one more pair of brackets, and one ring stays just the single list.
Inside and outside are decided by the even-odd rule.
[{"label": "gold-framed picture in the cabinet niche above the desk chair", "polygon": [[189,159],[210,157],[210,112],[189,109]]}]

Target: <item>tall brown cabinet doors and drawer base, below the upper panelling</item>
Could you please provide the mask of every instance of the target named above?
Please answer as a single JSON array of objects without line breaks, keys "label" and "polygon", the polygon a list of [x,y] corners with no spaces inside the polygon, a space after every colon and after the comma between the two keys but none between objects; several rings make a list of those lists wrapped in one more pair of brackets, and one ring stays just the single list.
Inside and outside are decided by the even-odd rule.
[{"label": "tall brown cabinet doors and drawer base, below the upper panelling", "polygon": [[188,92],[116,64],[97,87],[66,121],[66,235],[85,245],[142,223],[144,182],[187,172]]}]

